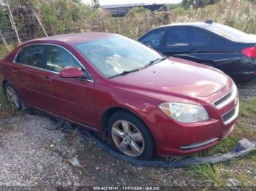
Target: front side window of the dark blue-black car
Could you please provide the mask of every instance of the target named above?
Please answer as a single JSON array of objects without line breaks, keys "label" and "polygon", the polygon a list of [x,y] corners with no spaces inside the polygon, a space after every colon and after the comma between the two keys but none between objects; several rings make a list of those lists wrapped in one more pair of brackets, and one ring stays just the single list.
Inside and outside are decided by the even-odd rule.
[{"label": "front side window of the dark blue-black car", "polygon": [[141,39],[140,42],[150,47],[159,47],[164,35],[164,30],[151,31],[151,33],[146,35],[145,38]]}]

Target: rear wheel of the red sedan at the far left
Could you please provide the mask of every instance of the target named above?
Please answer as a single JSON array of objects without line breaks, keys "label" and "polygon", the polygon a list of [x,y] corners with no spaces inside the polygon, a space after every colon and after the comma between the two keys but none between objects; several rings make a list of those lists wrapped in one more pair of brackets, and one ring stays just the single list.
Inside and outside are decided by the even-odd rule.
[{"label": "rear wheel of the red sedan at the far left", "polygon": [[7,100],[10,102],[10,104],[12,104],[14,109],[18,111],[23,111],[26,109],[26,106],[20,98],[18,91],[11,82],[7,82],[6,85],[4,85],[4,94],[6,95]]}]

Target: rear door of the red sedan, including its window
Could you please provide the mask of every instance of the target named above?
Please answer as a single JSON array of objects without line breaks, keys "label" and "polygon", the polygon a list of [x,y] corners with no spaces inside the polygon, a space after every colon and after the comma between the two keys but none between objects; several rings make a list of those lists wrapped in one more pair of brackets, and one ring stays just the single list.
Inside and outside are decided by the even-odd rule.
[{"label": "rear door of the red sedan, including its window", "polygon": [[11,82],[17,85],[26,104],[48,110],[50,107],[45,88],[50,80],[42,69],[45,61],[45,45],[31,44],[23,47],[12,65]]}]

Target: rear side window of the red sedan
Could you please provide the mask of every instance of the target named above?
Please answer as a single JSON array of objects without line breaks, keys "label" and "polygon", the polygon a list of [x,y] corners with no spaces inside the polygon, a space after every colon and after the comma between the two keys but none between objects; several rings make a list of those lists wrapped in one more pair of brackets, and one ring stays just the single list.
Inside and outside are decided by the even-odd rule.
[{"label": "rear side window of the red sedan", "polygon": [[23,47],[17,55],[15,62],[34,67],[42,67],[42,56],[45,45],[31,45]]}]

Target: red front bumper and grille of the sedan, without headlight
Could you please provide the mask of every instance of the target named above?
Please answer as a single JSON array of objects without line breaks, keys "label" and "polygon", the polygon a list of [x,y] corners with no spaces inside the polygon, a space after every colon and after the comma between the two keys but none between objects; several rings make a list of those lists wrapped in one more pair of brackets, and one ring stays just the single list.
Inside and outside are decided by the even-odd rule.
[{"label": "red front bumper and grille of the sedan, without headlight", "polygon": [[190,155],[213,147],[227,137],[234,129],[238,117],[238,93],[226,99],[225,105],[217,107],[217,98],[230,93],[231,82],[224,90],[205,98],[205,105],[211,119],[202,122],[176,122],[161,111],[157,112],[157,123],[151,127],[158,155]]}]

